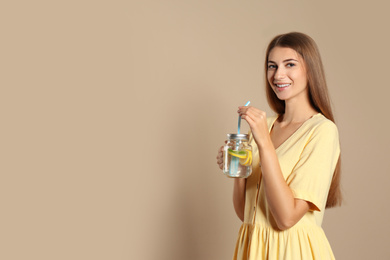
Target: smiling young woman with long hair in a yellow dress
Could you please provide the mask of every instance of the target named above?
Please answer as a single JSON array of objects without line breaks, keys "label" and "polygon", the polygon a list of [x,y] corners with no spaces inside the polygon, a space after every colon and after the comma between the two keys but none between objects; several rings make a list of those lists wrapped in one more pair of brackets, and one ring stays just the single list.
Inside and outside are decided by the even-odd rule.
[{"label": "smiling young woman with long hair in a yellow dress", "polygon": [[[251,130],[253,172],[234,180],[243,224],[233,259],[334,259],[321,224],[325,208],[341,204],[340,145],[315,42],[296,32],[276,36],[265,73],[277,115],[238,109]],[[222,149],[217,163],[222,169]]]}]

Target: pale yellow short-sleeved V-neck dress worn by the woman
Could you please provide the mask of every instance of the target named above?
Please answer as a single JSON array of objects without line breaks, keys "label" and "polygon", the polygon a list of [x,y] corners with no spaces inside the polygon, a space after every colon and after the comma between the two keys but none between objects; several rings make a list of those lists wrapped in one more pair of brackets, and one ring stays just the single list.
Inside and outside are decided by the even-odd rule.
[{"label": "pale yellow short-sleeved V-neck dress worn by the woman", "polygon": [[[269,131],[276,119],[268,118]],[[258,149],[252,136],[250,143],[253,172],[246,183],[244,222],[233,259],[335,259],[321,224],[340,154],[336,125],[322,114],[316,114],[276,149],[284,179],[295,198],[312,203],[302,219],[284,231],[278,229],[268,208]]]}]

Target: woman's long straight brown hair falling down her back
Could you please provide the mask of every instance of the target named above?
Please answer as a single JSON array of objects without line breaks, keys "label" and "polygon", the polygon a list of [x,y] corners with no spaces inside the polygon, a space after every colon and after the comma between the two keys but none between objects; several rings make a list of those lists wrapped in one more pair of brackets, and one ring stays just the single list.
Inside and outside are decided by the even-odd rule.
[{"label": "woman's long straight brown hair falling down her back", "polygon": [[[268,56],[274,47],[287,47],[295,50],[303,58],[306,65],[307,85],[309,90],[309,98],[312,107],[322,113],[326,118],[335,122],[328,87],[326,85],[325,72],[322,65],[320,52],[314,40],[306,34],[299,32],[291,32],[276,36],[268,45],[265,58],[265,75],[268,69]],[[267,77],[265,77],[266,93],[269,106],[277,114],[285,113],[286,104],[284,100],[278,99],[275,92],[272,90]],[[341,160],[340,157],[333,174],[332,183],[330,185],[326,208],[340,206],[342,202],[342,194],[340,189],[341,175]]]}]

